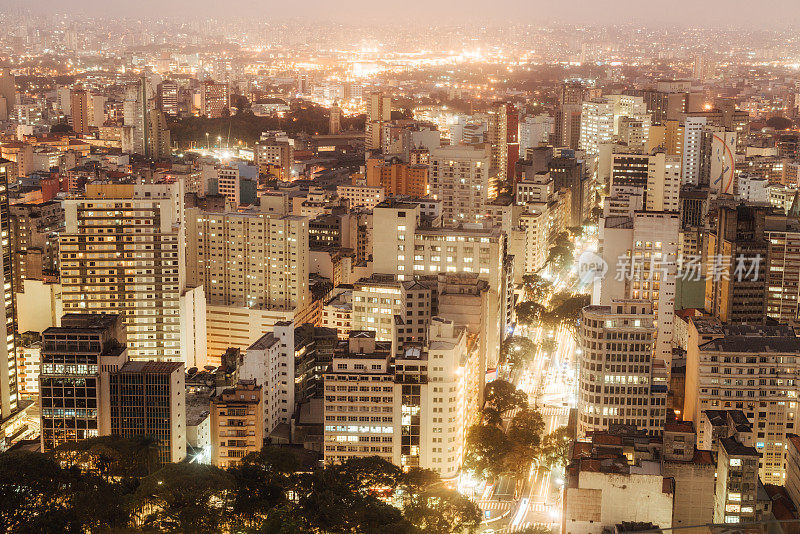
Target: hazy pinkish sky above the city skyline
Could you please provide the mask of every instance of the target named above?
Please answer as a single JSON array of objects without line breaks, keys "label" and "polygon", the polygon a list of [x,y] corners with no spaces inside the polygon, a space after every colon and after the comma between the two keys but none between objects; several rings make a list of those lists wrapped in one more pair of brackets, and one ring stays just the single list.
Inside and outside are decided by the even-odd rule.
[{"label": "hazy pinkish sky above the city skyline", "polygon": [[390,17],[479,18],[501,22],[574,20],[607,24],[634,22],[681,26],[755,26],[786,28],[800,22],[800,0],[0,0],[0,9],[106,13],[108,15],[176,16],[194,13],[239,16],[334,17],[357,22]]}]

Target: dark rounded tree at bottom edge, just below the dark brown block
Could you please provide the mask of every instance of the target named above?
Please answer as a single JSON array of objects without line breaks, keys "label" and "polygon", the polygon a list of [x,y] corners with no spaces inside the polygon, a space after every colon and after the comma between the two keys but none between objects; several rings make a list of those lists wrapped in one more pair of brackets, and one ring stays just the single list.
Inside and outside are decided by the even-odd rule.
[{"label": "dark rounded tree at bottom edge, just below the dark brown block", "polygon": [[218,532],[234,496],[234,478],[214,466],[168,464],[142,479],[136,508],[145,527]]}]

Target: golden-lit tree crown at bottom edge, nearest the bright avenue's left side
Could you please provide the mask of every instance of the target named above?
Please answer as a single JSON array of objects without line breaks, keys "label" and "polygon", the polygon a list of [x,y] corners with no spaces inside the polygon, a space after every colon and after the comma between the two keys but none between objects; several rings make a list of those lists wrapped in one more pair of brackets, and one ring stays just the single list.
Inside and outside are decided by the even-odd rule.
[{"label": "golden-lit tree crown at bottom edge, nearest the bright avenue's left side", "polygon": [[403,507],[403,515],[420,532],[450,534],[476,532],[482,513],[478,506],[455,490],[442,487],[413,495]]}]

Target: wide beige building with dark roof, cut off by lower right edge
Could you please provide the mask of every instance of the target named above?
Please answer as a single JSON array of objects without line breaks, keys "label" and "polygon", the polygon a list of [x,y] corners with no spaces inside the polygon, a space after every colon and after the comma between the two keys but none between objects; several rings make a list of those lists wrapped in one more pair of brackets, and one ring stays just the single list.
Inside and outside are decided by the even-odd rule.
[{"label": "wide beige building with dark roof, cut off by lower right edge", "polygon": [[[785,482],[786,435],[797,424],[800,339],[789,325],[722,324],[691,319],[686,350],[683,416],[701,421],[707,410],[742,410],[755,431],[761,480]],[[711,436],[702,436],[708,443]]]}]

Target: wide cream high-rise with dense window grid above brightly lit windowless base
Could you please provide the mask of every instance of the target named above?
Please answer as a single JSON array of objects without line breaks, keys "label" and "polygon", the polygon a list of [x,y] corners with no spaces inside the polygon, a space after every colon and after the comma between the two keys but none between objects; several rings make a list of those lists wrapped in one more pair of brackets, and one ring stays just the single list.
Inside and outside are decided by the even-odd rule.
[{"label": "wide cream high-rise with dense window grid above brightly lit windowless base", "polygon": [[191,208],[187,280],[207,299],[208,351],[246,349],[311,302],[308,220],[295,215],[212,213]]}]

